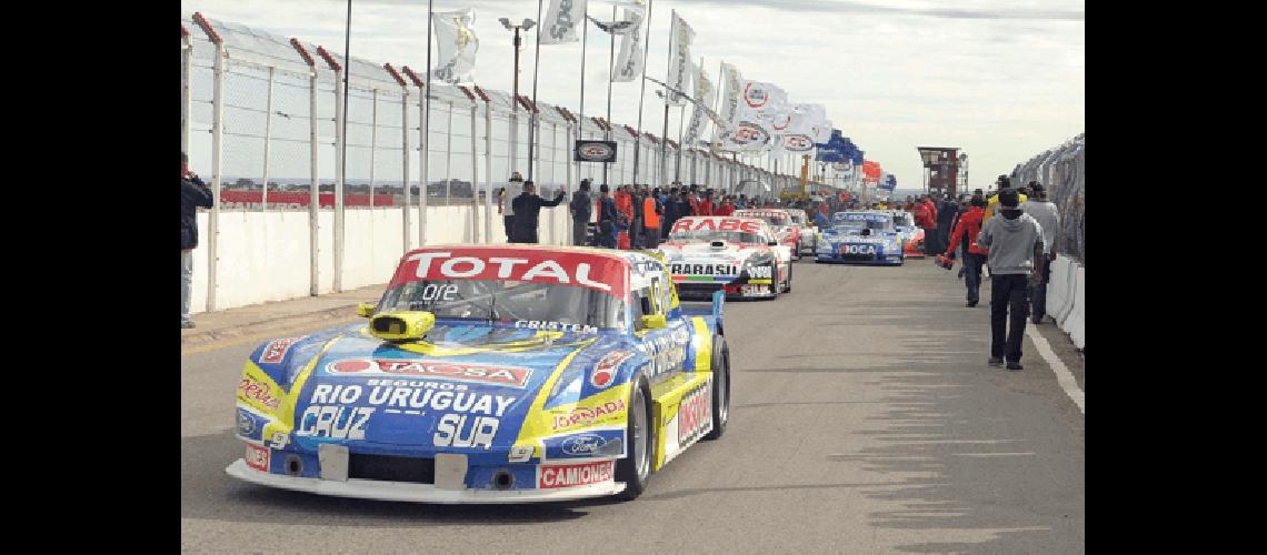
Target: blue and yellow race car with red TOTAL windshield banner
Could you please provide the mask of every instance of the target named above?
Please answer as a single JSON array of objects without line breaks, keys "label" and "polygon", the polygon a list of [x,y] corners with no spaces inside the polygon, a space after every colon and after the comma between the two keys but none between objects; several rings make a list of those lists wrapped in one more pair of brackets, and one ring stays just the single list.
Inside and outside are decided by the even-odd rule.
[{"label": "blue and yellow race car with red TOTAL windshield banner", "polygon": [[679,305],[664,262],[584,247],[402,258],[367,322],[260,345],[226,472],[435,503],[639,497],[730,413],[725,296]]}]

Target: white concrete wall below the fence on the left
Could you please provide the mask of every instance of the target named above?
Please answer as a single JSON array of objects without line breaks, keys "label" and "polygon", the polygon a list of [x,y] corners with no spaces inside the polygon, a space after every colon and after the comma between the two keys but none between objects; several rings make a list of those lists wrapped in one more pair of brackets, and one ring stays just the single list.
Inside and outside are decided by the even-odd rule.
[{"label": "white concrete wall below the fence on the left", "polygon": [[[427,244],[488,243],[480,206],[428,206]],[[207,311],[208,220],[198,214],[191,311]],[[568,209],[541,211],[541,244],[568,243]],[[342,288],[386,283],[405,253],[400,209],[346,209],[343,216]],[[409,212],[409,247],[418,243],[418,211]],[[479,229],[473,230],[473,223]],[[506,243],[502,217],[493,209],[492,243]],[[307,297],[310,292],[310,247],[307,211],[220,211],[217,244],[217,310]],[[334,291],[334,212],[318,212],[318,293]]]}]

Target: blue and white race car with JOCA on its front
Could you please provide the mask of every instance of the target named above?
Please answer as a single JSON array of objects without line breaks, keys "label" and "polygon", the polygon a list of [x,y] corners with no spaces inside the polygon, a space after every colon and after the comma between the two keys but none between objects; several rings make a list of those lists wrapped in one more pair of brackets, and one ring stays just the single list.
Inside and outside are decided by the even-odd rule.
[{"label": "blue and white race car with JOCA on its front", "polygon": [[879,210],[836,212],[831,229],[818,239],[815,262],[850,262],[902,265],[902,238],[893,230],[893,216]]}]

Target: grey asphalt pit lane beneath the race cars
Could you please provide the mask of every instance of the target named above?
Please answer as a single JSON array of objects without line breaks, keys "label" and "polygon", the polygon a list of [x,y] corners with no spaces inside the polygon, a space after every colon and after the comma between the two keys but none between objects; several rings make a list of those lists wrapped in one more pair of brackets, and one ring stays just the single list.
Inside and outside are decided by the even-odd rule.
[{"label": "grey asphalt pit lane beneath the race cars", "polygon": [[[181,357],[181,547],[1086,551],[1086,418],[1029,339],[1022,372],[986,365],[988,286],[965,308],[963,282],[929,260],[808,259],[793,286],[774,302],[727,303],[726,435],[627,503],[427,506],[238,482],[224,467],[242,456],[233,394],[253,344]],[[1066,364],[1085,387],[1081,362]]]}]

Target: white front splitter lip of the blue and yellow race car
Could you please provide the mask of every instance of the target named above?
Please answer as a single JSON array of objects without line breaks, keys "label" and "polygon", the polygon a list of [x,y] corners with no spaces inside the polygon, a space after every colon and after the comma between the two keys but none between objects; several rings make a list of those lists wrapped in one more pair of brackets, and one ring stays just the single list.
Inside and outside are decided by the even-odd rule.
[{"label": "white front splitter lip of the blue and yellow race car", "polygon": [[441,489],[432,484],[348,478],[346,482],[302,478],[256,470],[238,459],[224,472],[246,482],[318,496],[355,497],[379,501],[421,503],[535,503],[614,496],[625,491],[623,482],[602,482],[559,489]]}]

